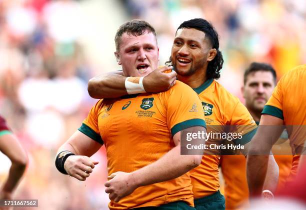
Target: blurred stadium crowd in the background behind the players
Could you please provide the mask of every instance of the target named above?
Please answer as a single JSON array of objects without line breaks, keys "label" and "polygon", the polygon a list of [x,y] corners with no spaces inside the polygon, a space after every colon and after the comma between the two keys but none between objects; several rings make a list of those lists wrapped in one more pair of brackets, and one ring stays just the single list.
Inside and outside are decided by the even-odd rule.
[{"label": "blurred stadium crowd in the background behind the players", "polygon": [[[304,0],[0,0],[0,114],[29,155],[16,198],[38,199],[41,209],[107,209],[104,148],[85,182],[54,167],[57,148],[95,103],[87,81],[120,68],[113,37],[126,20],[155,27],[163,64],[176,27],[195,17],[218,31],[220,83],[239,98],[251,61],[271,63],[279,77],[306,63]],[[0,162],[1,182],[9,161]]]}]

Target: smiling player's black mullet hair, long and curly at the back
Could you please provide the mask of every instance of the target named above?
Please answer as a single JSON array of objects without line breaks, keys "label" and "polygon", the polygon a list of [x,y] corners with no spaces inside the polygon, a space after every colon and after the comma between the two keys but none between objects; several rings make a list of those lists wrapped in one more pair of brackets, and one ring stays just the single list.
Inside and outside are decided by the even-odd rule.
[{"label": "smiling player's black mullet hair, long and curly at the back", "polygon": [[[220,78],[220,70],[223,65],[223,56],[222,56],[221,51],[219,50],[219,35],[213,28],[212,24],[209,23],[205,19],[195,18],[195,19],[184,21],[178,26],[177,30],[181,28],[195,28],[205,33],[205,37],[207,37],[208,40],[210,41],[212,48],[215,48],[217,51],[215,57],[211,61],[208,62],[207,71],[206,71],[206,79]],[[170,60],[166,61],[165,65],[171,65],[171,63],[172,63],[172,60],[170,57]]]}]

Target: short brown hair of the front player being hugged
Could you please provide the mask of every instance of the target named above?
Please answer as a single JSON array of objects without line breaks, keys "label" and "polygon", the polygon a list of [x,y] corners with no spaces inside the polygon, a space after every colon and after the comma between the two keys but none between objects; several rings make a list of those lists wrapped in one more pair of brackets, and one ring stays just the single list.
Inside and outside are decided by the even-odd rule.
[{"label": "short brown hair of the front player being hugged", "polygon": [[116,51],[119,51],[119,46],[121,43],[121,36],[123,33],[127,33],[128,35],[142,35],[145,33],[145,31],[152,32],[154,36],[156,37],[156,32],[155,29],[146,21],[141,20],[141,19],[132,19],[130,21],[127,21],[120,25],[118,28],[114,41],[116,45]]}]

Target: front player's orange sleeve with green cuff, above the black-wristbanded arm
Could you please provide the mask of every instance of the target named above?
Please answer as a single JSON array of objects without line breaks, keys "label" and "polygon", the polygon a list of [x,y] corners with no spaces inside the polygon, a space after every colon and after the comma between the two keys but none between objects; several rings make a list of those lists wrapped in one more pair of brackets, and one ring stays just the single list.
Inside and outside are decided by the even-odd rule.
[{"label": "front player's orange sleeve with green cuff, above the black-wristbanded arm", "polygon": [[92,138],[96,142],[103,144],[103,140],[98,128],[98,111],[102,105],[102,99],[99,100],[89,111],[87,117],[83,120],[82,125],[78,128],[79,131]]}]

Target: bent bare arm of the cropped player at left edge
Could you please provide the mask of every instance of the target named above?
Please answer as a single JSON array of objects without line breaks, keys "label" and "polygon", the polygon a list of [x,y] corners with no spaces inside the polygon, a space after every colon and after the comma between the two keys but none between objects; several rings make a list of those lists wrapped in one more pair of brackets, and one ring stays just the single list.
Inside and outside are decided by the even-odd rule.
[{"label": "bent bare arm of the cropped player at left edge", "polygon": [[4,181],[0,191],[0,199],[10,199],[11,193],[16,188],[24,173],[27,164],[27,155],[13,134],[0,136],[0,151],[11,161],[8,177]]}]

